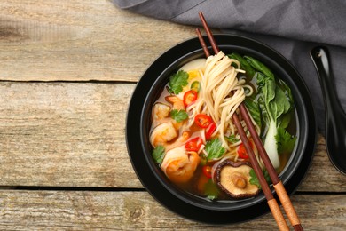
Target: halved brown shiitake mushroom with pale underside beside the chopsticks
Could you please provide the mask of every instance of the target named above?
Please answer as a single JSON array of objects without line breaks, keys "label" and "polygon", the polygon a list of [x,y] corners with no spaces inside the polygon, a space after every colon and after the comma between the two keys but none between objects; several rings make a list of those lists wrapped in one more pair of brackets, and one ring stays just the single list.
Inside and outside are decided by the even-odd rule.
[{"label": "halved brown shiitake mushroom with pale underside beside the chopsticks", "polygon": [[226,160],[216,168],[216,183],[227,195],[233,198],[247,198],[258,194],[259,188],[250,183],[248,162],[232,162]]}]

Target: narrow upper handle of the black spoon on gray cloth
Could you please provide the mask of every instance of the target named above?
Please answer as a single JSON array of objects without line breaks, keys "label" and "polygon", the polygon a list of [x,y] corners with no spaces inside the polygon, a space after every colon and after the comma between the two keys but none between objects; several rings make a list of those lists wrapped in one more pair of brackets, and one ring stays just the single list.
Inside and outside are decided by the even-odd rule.
[{"label": "narrow upper handle of the black spoon on gray cloth", "polygon": [[329,116],[343,113],[334,88],[334,75],[329,63],[329,52],[324,46],[315,47],[311,50],[311,59],[318,71],[318,78],[325,99],[326,121],[328,121],[330,119]]}]

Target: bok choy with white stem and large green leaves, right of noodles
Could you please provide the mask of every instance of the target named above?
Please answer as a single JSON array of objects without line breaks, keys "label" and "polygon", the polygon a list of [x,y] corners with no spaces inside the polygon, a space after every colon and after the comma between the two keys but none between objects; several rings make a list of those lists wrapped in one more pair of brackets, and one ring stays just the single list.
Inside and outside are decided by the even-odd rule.
[{"label": "bok choy with white stem and large green leaves, right of noodles", "polygon": [[[265,125],[264,148],[274,168],[278,168],[279,154],[292,152],[296,140],[296,137],[286,131],[294,108],[291,89],[284,81],[276,80],[271,69],[261,61],[250,56],[241,57],[238,53],[232,53],[228,57],[239,60],[241,68],[245,67],[248,73],[254,72],[257,95],[247,98],[245,105],[255,122],[260,127]],[[244,61],[248,64],[244,64]],[[249,71],[246,69],[248,67]]]}]

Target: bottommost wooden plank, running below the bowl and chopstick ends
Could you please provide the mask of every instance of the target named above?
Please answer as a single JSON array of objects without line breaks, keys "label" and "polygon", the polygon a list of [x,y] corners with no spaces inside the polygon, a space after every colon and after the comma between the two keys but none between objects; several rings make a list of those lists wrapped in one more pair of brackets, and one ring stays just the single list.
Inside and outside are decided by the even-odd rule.
[{"label": "bottommost wooden plank, running below the bowl and chopstick ends", "polygon": [[[346,195],[294,195],[292,202],[305,230],[345,230]],[[271,214],[225,226],[194,222],[146,192],[0,191],[0,203],[2,230],[277,230]]]}]

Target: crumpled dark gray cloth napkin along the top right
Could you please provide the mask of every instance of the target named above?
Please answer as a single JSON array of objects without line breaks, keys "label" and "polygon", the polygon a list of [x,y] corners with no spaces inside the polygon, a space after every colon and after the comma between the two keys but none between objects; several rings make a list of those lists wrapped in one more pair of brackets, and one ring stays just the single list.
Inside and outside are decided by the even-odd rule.
[{"label": "crumpled dark gray cloth napkin along the top right", "polygon": [[314,103],[318,130],[325,132],[325,109],[312,47],[329,49],[336,91],[346,108],[346,1],[309,0],[113,0],[118,7],[161,20],[201,26],[203,12],[210,28],[248,36],[268,44],[298,69]]}]

